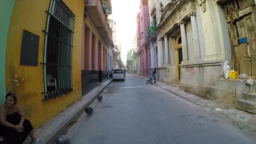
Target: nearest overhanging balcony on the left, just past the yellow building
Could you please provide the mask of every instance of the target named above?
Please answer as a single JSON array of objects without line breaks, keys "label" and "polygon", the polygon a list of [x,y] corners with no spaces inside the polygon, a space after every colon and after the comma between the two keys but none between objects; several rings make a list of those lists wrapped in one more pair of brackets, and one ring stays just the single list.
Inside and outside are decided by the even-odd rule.
[{"label": "nearest overhanging balcony on the left, just past the yellow building", "polygon": [[107,22],[107,16],[103,11],[101,0],[87,0],[85,11],[90,16],[99,34],[103,37],[106,44],[112,44],[112,32]]}]

